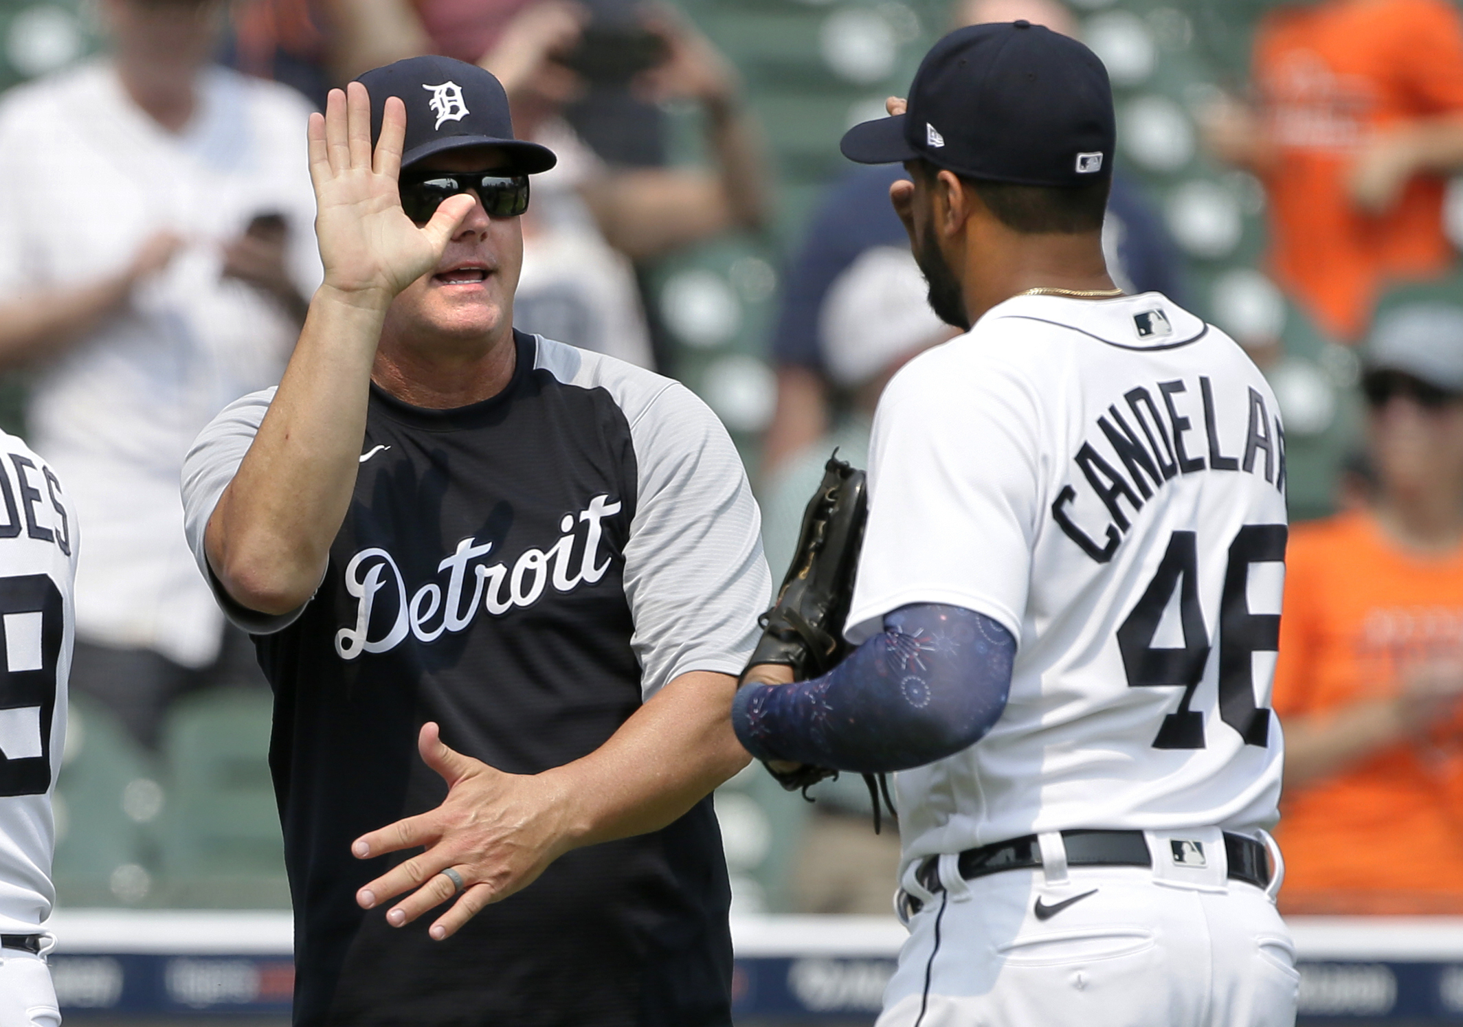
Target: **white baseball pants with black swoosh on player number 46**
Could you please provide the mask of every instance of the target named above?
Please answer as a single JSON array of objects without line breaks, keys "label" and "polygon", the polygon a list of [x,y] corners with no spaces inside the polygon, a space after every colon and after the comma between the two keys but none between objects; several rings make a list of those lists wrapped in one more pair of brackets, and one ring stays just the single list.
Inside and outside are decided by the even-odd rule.
[{"label": "white baseball pants with black swoosh on player number 46", "polygon": [[[1204,843],[1206,868],[1165,859],[1181,837]],[[974,881],[941,856],[935,894],[906,873],[923,907],[876,1027],[1295,1023],[1301,977],[1273,901],[1280,873],[1264,891],[1227,879],[1217,830],[1148,832],[1153,869],[1068,869],[1061,835],[1040,841],[1043,868]]]}]

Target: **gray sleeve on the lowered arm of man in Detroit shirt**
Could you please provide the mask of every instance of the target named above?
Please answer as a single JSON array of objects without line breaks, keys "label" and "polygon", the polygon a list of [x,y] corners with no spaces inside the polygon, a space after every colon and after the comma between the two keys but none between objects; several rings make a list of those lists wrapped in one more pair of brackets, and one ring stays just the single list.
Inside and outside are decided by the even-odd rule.
[{"label": "gray sleeve on the lowered arm of man in Detroit shirt", "polygon": [[691,670],[740,674],[772,581],[742,459],[715,414],[666,386],[631,424],[639,490],[625,546],[644,698]]}]

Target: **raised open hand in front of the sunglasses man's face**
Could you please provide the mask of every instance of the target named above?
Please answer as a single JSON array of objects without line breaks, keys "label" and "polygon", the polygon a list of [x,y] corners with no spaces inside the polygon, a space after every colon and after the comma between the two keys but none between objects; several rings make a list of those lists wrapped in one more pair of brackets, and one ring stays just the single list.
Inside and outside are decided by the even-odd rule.
[{"label": "raised open hand in front of the sunglasses man's face", "polygon": [[372,154],[370,97],[360,82],[345,92],[331,89],[325,114],[310,116],[315,233],[325,285],[382,307],[436,266],[474,202],[467,193],[454,196],[426,225],[413,224],[396,192],[405,133],[407,108],[391,97]]}]

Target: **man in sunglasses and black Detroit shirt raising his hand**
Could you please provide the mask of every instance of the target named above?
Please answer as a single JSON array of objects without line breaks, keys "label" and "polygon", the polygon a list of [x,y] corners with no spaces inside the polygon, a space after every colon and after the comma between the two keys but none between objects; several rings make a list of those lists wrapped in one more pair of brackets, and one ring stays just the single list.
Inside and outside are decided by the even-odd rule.
[{"label": "man in sunglasses and black Detroit shirt raising his hand", "polygon": [[756,506],[685,388],[514,331],[553,161],[471,64],[332,92],[325,284],[184,468],[277,695],[298,1024],[730,1024],[707,796],[746,761]]}]

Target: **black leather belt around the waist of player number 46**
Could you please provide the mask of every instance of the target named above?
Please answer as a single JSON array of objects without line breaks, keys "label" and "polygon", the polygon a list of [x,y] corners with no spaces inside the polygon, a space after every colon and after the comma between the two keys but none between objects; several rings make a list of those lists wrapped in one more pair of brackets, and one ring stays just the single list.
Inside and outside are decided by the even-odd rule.
[{"label": "black leather belt around the waist of player number 46", "polygon": [[[1153,866],[1153,854],[1143,831],[1062,831],[1062,844],[1067,847],[1068,866]],[[1225,831],[1225,854],[1232,881],[1244,881],[1257,888],[1270,885],[1270,863],[1261,843]],[[1203,856],[1186,850],[1182,854],[1175,853],[1175,862],[1182,863],[1186,859],[1203,859]],[[960,853],[960,876],[966,881],[1040,865],[1042,847],[1034,834]],[[928,891],[938,892],[944,887],[939,882],[939,860],[933,856],[925,860],[916,876]],[[919,900],[913,895],[910,903],[919,908]]]}]

